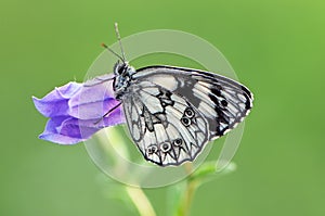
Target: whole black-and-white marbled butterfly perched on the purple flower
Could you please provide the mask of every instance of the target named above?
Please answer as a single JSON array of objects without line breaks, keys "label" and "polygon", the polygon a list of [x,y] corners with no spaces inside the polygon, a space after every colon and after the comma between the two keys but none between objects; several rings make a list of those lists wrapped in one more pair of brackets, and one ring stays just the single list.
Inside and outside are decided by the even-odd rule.
[{"label": "whole black-and-white marbled butterfly perched on the purple flower", "polygon": [[122,56],[103,45],[119,58],[115,107],[122,105],[130,136],[146,161],[159,166],[192,162],[249,114],[252,93],[224,76],[169,65],[135,69],[126,61],[117,24],[115,29]]}]

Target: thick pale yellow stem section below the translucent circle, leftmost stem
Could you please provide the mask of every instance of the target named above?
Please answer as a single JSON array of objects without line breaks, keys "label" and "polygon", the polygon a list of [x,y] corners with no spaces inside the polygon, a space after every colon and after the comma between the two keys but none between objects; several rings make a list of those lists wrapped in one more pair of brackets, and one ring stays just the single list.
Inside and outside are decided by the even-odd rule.
[{"label": "thick pale yellow stem section below the translucent circle, leftmost stem", "polygon": [[156,216],[156,213],[141,188],[126,186],[127,193],[141,216]]}]

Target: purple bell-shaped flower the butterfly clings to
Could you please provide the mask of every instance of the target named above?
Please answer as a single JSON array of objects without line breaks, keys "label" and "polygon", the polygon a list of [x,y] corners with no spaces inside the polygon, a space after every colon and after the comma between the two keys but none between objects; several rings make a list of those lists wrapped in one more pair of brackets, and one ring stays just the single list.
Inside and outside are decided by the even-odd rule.
[{"label": "purple bell-shaped flower the butterfly clings to", "polygon": [[36,109],[50,118],[39,138],[74,144],[89,139],[104,127],[125,123],[121,106],[114,109],[119,102],[114,98],[110,77],[103,75],[84,84],[72,81],[42,99],[32,97]]}]

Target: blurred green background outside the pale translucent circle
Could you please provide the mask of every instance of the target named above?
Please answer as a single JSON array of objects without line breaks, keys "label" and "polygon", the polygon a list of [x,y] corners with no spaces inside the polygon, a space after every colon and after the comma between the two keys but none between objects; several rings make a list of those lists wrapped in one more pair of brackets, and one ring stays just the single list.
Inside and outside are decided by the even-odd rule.
[{"label": "blurred green background outside the pale translucent circle", "polygon": [[[46,118],[30,98],[82,80],[99,45],[116,41],[114,22],[122,36],[203,37],[255,92],[237,170],[200,187],[192,215],[325,215],[324,11],[322,0],[2,0],[0,215],[132,214],[108,199],[82,144],[37,139]],[[166,215],[166,189],[146,193]]]}]

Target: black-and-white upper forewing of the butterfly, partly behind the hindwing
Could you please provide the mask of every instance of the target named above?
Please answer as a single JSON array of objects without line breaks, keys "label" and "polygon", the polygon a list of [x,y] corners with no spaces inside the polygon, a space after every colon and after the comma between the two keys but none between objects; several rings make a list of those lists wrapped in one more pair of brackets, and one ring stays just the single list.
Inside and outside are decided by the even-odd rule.
[{"label": "black-and-white upper forewing of the butterfly, partly behind the hindwing", "polygon": [[213,73],[174,66],[148,66],[134,79],[182,96],[208,122],[209,140],[235,128],[252,107],[252,93],[242,84]]}]

